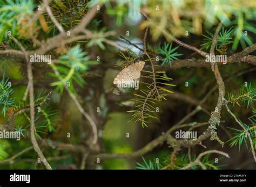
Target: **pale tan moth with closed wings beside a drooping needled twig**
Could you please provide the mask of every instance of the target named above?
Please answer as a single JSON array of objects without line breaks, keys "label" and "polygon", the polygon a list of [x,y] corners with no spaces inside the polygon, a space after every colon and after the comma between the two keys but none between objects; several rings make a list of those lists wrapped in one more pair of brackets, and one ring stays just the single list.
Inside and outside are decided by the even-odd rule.
[{"label": "pale tan moth with closed wings beside a drooping needled twig", "polygon": [[119,84],[120,82],[130,82],[136,78],[140,77],[140,71],[144,68],[145,62],[140,61],[131,64],[130,66],[124,68],[120,73],[114,78],[113,83]]}]

